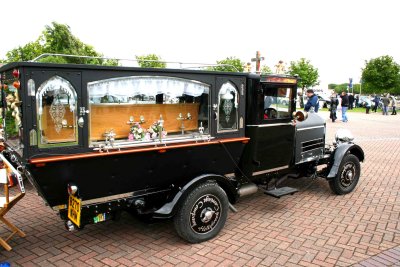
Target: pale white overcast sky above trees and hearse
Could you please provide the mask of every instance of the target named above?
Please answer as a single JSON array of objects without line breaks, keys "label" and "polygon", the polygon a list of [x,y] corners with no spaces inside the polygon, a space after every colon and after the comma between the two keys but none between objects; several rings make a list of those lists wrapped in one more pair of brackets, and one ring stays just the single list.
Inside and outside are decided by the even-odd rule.
[{"label": "pale white overcast sky above trees and hearse", "polygon": [[279,60],[306,58],[321,87],[359,82],[371,58],[390,55],[400,63],[398,0],[19,0],[0,9],[0,58],[56,21],[107,57],[250,62],[260,51],[272,70]]}]

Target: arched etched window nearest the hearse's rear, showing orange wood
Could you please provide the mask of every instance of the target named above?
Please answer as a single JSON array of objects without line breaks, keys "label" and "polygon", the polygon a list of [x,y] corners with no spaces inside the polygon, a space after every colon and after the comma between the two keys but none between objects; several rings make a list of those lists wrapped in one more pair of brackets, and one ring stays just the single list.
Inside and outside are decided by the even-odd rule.
[{"label": "arched etched window nearest the hearse's rear, showing orange wood", "polygon": [[54,76],[36,93],[39,147],[78,143],[77,95],[70,82]]}]

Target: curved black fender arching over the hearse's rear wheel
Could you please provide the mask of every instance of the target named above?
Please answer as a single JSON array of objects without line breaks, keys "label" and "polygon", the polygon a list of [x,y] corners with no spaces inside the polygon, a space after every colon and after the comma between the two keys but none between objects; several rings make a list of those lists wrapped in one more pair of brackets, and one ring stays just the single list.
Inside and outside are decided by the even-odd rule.
[{"label": "curved black fender arching over the hearse's rear wheel", "polygon": [[203,174],[203,175],[200,175],[200,176],[190,180],[190,182],[185,184],[185,186],[182,187],[182,189],[180,189],[178,191],[178,193],[176,193],[176,195],[174,196],[174,198],[172,199],[171,202],[164,204],[164,206],[162,206],[161,208],[159,208],[158,210],[156,210],[154,212],[153,217],[154,218],[170,218],[170,217],[172,217],[176,212],[176,205],[179,203],[179,201],[185,195],[185,193],[188,192],[193,187],[195,187],[205,181],[213,181],[213,182],[217,183],[219,186],[221,186],[221,188],[224,189],[224,191],[226,192],[226,194],[229,198],[229,201],[231,203],[236,202],[236,200],[238,199],[238,193],[237,193],[237,189],[236,189],[236,185],[235,185],[235,182],[236,182],[235,180],[230,180],[230,179],[226,178],[225,176],[218,175],[218,174]]}]

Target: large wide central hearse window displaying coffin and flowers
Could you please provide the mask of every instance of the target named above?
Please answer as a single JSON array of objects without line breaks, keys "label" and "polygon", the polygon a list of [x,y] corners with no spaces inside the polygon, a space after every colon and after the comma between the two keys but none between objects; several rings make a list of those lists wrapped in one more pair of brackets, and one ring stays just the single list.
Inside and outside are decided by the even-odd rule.
[{"label": "large wide central hearse window displaying coffin and flowers", "polygon": [[177,77],[129,76],[90,82],[90,146],[107,143],[110,137],[119,144],[145,144],[208,134],[209,91],[208,84]]}]

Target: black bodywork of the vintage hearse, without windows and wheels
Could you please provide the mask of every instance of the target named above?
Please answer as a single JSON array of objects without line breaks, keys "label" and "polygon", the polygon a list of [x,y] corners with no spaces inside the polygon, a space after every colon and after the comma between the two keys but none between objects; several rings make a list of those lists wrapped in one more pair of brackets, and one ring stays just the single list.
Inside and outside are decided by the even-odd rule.
[{"label": "black bodywork of the vintage hearse, without windows and wheels", "polygon": [[[340,155],[327,150],[325,123],[317,114],[311,114],[304,122],[293,122],[296,77],[280,79],[277,76],[276,80],[268,80],[246,73],[24,62],[0,68],[2,85],[15,80],[12,76],[15,69],[20,72],[18,93],[22,101],[22,125],[19,138],[9,138],[3,154],[16,167],[21,167],[47,204],[60,210],[65,220],[67,186],[77,185],[83,201],[82,225],[93,223],[93,217],[99,213],[113,215],[122,209],[171,217],[185,190],[208,180],[216,181],[229,201],[235,203],[242,187],[262,182],[271,172],[282,176],[287,173],[305,175],[316,165],[326,164],[331,172],[328,176],[327,171],[329,178],[335,175],[335,168],[337,172],[343,153],[353,150],[360,160],[364,159],[361,148],[355,145],[340,149]],[[78,129],[76,145],[40,148],[30,136],[30,131],[37,128],[37,111],[34,95],[28,94],[27,82],[34,79],[39,85],[55,75],[77,88],[78,105],[85,109],[89,108],[86,86],[96,80],[148,75],[208,84],[209,134],[213,139],[200,144],[192,140],[183,145],[149,146],[147,150],[127,148],[98,152],[90,147],[89,129],[85,126]],[[213,106],[218,102],[217,89],[227,81],[239,92],[240,126],[235,132],[219,132],[215,125],[217,113]],[[271,88],[290,89],[286,108],[290,116],[265,119],[264,99]],[[3,107],[6,105],[4,98],[3,95]],[[331,169],[332,166],[335,167]]]}]

